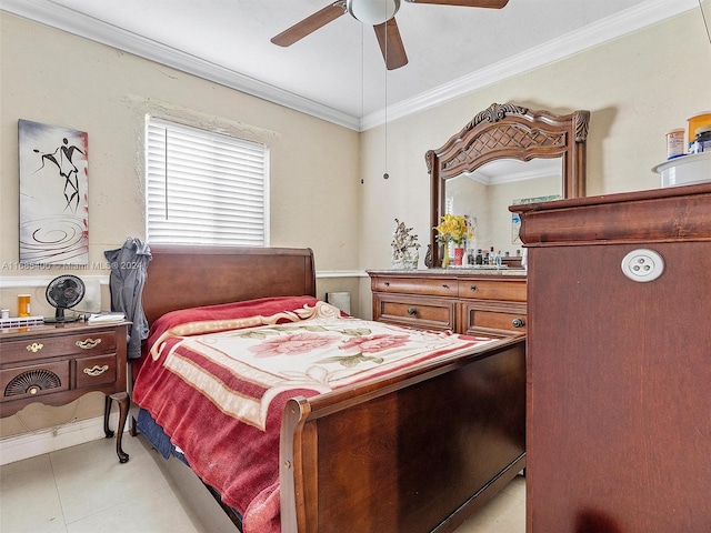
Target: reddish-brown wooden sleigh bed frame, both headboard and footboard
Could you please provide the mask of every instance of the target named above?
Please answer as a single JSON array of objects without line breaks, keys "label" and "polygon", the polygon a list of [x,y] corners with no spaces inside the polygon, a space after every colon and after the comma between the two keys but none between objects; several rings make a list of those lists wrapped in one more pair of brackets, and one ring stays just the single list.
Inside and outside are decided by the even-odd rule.
[{"label": "reddish-brown wooden sleigh bed frame, both headboard and footboard", "polygon": [[[309,249],[152,247],[152,323],[196,305],[316,295]],[[281,426],[283,533],[451,532],[525,466],[524,338],[375,383],[294,398]]]}]

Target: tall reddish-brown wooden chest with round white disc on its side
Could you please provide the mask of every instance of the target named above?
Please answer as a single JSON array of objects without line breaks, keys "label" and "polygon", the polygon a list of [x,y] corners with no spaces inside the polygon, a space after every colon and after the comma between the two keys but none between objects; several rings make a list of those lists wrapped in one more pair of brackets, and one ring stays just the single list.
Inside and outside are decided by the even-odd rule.
[{"label": "tall reddish-brown wooden chest with round white disc on its side", "polygon": [[527,531],[708,533],[711,184],[517,211]]}]

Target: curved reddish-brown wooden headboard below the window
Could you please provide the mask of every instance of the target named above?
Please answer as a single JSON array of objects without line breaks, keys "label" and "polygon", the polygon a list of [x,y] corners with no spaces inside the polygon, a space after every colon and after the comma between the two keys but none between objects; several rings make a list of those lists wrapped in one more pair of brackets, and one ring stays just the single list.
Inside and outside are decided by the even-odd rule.
[{"label": "curved reddish-brown wooden headboard below the window", "polygon": [[170,311],[268,296],[316,296],[310,248],[151,247],[143,311]]}]

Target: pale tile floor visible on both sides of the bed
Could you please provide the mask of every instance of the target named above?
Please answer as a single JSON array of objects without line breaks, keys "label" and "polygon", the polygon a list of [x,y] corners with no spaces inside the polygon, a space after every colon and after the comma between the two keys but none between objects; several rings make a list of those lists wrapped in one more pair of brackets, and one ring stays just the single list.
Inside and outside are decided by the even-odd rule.
[{"label": "pale tile floor visible on both sides of the bed", "polygon": [[[131,455],[126,464],[116,457],[114,441],[102,439],[0,466],[0,531],[217,533],[221,529],[200,521],[166,477],[162,457],[142,438],[127,434],[123,449]],[[522,533],[524,507],[525,481],[518,476],[457,533]]]}]

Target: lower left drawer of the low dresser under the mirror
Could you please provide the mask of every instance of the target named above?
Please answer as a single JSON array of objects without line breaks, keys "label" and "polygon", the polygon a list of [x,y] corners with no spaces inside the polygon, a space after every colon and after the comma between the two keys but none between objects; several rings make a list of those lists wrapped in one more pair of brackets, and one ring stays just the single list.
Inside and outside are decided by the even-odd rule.
[{"label": "lower left drawer of the low dresser under the mirror", "polygon": [[453,301],[374,295],[375,320],[428,330],[453,330]]}]

